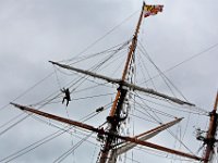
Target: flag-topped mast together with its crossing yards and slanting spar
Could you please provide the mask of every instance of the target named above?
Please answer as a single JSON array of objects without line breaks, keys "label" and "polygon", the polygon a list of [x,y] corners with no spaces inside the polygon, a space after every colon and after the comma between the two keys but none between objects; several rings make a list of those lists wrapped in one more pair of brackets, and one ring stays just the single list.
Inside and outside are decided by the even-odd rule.
[{"label": "flag-topped mast together with its crossing yards and slanting spar", "polygon": [[[110,163],[109,158],[111,158],[111,155],[112,155],[112,150],[113,150],[113,147],[117,146],[116,142],[117,142],[118,139],[123,140],[123,142],[128,142],[126,146],[121,146],[120,153],[125,152],[129,149],[134,148],[136,145],[141,145],[141,146],[149,147],[149,148],[160,150],[160,151],[164,151],[164,152],[178,154],[180,156],[185,156],[185,158],[189,158],[189,159],[202,161],[203,159],[199,158],[199,156],[192,155],[192,154],[184,153],[184,152],[177,151],[177,150],[172,150],[172,149],[169,149],[169,148],[156,145],[156,143],[145,141],[146,139],[154,137],[158,133],[160,133],[160,131],[165,130],[166,128],[168,128],[168,127],[174,125],[175,123],[180,122],[181,118],[178,118],[174,122],[171,122],[171,123],[168,123],[168,124],[164,124],[159,127],[156,127],[152,130],[148,130],[148,131],[143,133],[143,134],[135,136],[135,137],[128,137],[128,136],[119,135],[120,123],[123,120],[123,117],[121,117],[121,111],[122,111],[123,103],[124,103],[124,100],[125,100],[125,97],[128,95],[129,89],[144,91],[146,93],[158,96],[158,97],[168,99],[168,100],[175,102],[175,103],[179,103],[179,104],[194,105],[192,103],[181,101],[177,98],[171,98],[171,97],[166,96],[164,93],[159,93],[157,91],[154,91],[153,89],[147,89],[147,88],[142,88],[142,87],[135,86],[135,85],[130,84],[125,80],[131,60],[132,60],[133,54],[134,54],[135,49],[136,49],[137,35],[138,35],[138,32],[140,32],[140,26],[142,24],[143,13],[144,13],[145,7],[146,5],[145,5],[145,2],[144,2],[135,33],[134,33],[133,38],[132,38],[132,42],[131,42],[131,46],[130,46],[128,59],[125,61],[125,65],[124,65],[123,72],[122,72],[122,78],[121,79],[113,79],[113,78],[110,78],[110,77],[107,77],[107,76],[104,76],[104,75],[99,75],[99,74],[92,73],[92,72],[88,72],[88,71],[83,71],[83,70],[78,70],[78,68],[75,68],[75,67],[72,67],[72,66],[68,66],[68,65],[59,64],[57,62],[49,61],[52,64],[57,64],[61,67],[69,68],[69,70],[72,70],[72,71],[75,71],[75,72],[78,72],[78,73],[82,73],[82,74],[86,74],[86,75],[89,75],[89,76],[93,76],[93,77],[101,78],[101,79],[105,79],[109,83],[113,83],[113,84],[119,85],[117,96],[114,98],[113,104],[112,104],[111,110],[110,110],[110,114],[107,117],[108,129],[105,130],[102,128],[96,128],[94,126],[90,126],[90,125],[87,125],[87,124],[84,124],[84,123],[81,123],[81,122],[60,117],[60,116],[57,116],[57,115],[53,115],[53,114],[41,112],[41,111],[32,109],[32,108],[28,108],[28,106],[20,105],[20,104],[16,104],[16,103],[11,103],[11,104],[13,104],[14,106],[16,106],[16,108],[19,108],[19,109],[21,109],[25,112],[38,114],[40,116],[45,116],[45,117],[48,117],[48,118],[51,118],[51,120],[56,120],[56,121],[59,121],[59,122],[62,122],[62,123],[66,123],[66,124],[73,125],[73,126],[77,126],[77,127],[81,127],[81,128],[104,135],[105,141],[104,141],[102,149],[99,153],[99,160],[98,160],[99,163]],[[155,10],[154,12],[157,12],[157,11]],[[216,105],[217,105],[217,102],[216,102]],[[214,118],[217,120],[217,117],[214,117]],[[214,147],[214,145],[213,145],[213,147]]]}]

